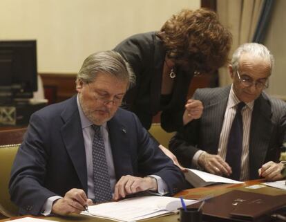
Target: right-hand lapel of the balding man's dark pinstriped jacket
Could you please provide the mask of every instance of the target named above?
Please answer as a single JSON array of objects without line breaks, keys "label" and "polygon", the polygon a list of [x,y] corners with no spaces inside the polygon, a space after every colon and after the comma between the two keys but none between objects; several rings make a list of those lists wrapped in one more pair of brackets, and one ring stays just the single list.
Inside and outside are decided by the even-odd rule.
[{"label": "right-hand lapel of the balding man's dark pinstriped jacket", "polygon": [[257,178],[259,169],[265,160],[269,146],[271,131],[271,107],[262,95],[254,102],[249,135],[249,168],[250,178]]}]

